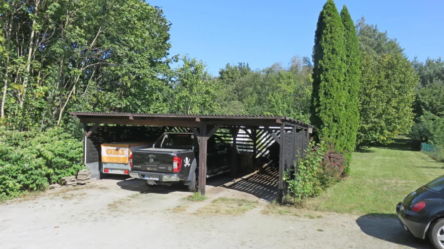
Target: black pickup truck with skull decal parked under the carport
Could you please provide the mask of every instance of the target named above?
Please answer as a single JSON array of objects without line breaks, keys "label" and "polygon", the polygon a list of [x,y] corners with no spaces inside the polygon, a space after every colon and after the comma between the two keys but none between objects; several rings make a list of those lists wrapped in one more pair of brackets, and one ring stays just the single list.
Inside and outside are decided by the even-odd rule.
[{"label": "black pickup truck with skull decal parked under the carport", "polygon": [[[213,135],[208,140],[207,146],[206,177],[229,171],[231,144]],[[237,148],[235,151],[239,153]],[[198,184],[198,161],[199,141],[193,133],[165,132],[152,148],[132,152],[129,175],[146,180],[147,185],[171,185],[174,182],[183,182],[194,192]]]}]

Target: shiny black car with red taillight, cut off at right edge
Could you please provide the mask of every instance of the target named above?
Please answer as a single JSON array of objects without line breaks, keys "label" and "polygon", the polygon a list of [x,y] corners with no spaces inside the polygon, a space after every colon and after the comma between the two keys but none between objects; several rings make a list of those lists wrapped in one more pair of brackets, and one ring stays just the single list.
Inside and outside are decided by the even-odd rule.
[{"label": "shiny black car with red taillight, cut off at right edge", "polygon": [[429,236],[435,248],[444,249],[444,175],[410,193],[396,214],[405,230],[420,239]]}]

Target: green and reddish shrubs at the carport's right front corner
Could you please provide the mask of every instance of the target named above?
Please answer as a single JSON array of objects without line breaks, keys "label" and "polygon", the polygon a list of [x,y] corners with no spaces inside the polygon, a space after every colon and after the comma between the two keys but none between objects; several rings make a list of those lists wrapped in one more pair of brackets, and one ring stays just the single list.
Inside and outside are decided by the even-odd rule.
[{"label": "green and reddish shrubs at the carport's right front corner", "polygon": [[[334,150],[333,144],[321,141],[318,145],[310,141],[305,157],[293,166],[296,174],[291,177],[290,171],[284,175],[290,194],[296,202],[306,197],[313,197],[340,180],[347,165],[345,157]],[[290,179],[291,178],[291,179]]]}]

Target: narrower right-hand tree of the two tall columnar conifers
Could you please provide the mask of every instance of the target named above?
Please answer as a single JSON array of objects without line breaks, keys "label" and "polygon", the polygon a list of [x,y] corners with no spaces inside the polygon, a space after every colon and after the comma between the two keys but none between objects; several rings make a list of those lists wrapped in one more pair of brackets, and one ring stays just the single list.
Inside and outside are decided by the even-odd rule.
[{"label": "narrower right-hand tree of the two tall columnar conifers", "polygon": [[[356,134],[359,127],[359,77],[361,75],[361,52],[359,50],[358,37],[353,20],[350,17],[347,7],[341,10],[341,20],[344,25],[345,36],[345,64],[347,70],[345,72],[344,85],[346,91],[348,89],[348,99],[345,101],[346,129],[345,136],[347,138],[347,151],[353,151],[356,147]],[[351,153],[346,153],[347,161],[351,161]],[[348,164],[347,164],[348,165]],[[349,167],[345,169],[348,173]]]}]

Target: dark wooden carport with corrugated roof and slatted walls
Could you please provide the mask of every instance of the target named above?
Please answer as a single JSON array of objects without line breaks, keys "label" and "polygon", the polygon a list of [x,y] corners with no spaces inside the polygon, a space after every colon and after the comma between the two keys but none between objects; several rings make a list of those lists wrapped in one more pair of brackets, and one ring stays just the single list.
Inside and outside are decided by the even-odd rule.
[{"label": "dark wooden carport with corrugated roof and slatted walls", "polygon": [[[137,113],[74,112],[84,127],[84,163],[97,178],[100,170],[100,144],[123,140],[155,140],[165,131],[191,131],[199,139],[199,192],[205,195],[207,175],[207,141],[215,133],[230,141],[232,149],[253,154],[253,161],[270,153],[276,142],[278,152],[278,194],[285,192],[284,171],[303,157],[312,126],[283,116],[175,115]],[[275,146],[276,147],[276,146]],[[233,153],[233,155],[235,155]],[[238,165],[231,159],[231,178]],[[297,170],[297,169],[295,169]]]}]

